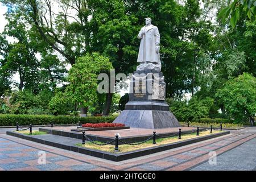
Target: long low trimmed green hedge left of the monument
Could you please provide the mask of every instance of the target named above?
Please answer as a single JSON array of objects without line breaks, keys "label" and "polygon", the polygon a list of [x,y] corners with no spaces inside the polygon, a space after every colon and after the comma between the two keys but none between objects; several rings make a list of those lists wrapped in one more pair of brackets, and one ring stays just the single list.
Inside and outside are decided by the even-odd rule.
[{"label": "long low trimmed green hedge left of the monument", "polygon": [[81,123],[100,123],[113,122],[117,116],[109,117],[69,117],[64,115],[27,115],[27,114],[0,114],[0,126],[16,126],[19,125],[49,125],[53,122],[55,125],[68,125]]}]

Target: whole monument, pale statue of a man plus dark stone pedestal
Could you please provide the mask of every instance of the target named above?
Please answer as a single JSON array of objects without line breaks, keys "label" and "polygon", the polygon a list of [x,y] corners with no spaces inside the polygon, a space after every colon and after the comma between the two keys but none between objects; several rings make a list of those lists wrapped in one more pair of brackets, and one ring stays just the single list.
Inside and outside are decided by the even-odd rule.
[{"label": "whole monument, pale statue of a man plus dark stone pedestal", "polygon": [[114,123],[144,129],[179,127],[179,122],[165,102],[166,83],[159,54],[160,34],[150,18],[146,18],[146,26],[139,31],[138,39],[141,40],[139,65],[130,80],[129,102]]}]

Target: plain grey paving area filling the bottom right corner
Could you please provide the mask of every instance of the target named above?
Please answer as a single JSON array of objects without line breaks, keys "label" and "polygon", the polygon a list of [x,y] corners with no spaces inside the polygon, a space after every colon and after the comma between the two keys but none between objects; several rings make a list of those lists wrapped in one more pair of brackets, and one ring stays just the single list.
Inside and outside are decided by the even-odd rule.
[{"label": "plain grey paving area filling the bottom right corner", "polygon": [[253,170],[256,168],[256,138],[217,156],[217,164],[205,162],[192,168],[192,171],[220,171],[220,170]]}]

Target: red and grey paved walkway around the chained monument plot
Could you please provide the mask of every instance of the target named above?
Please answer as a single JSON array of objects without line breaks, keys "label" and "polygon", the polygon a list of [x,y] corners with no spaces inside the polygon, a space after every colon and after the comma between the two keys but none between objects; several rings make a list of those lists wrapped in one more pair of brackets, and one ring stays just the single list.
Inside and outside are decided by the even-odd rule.
[{"label": "red and grey paved walkway around the chained monument plot", "polygon": [[[6,135],[0,129],[1,170],[255,170],[256,128],[233,131],[205,140],[139,158],[112,162]],[[38,152],[46,152],[46,164],[38,164]],[[210,165],[209,152],[217,154]]]}]

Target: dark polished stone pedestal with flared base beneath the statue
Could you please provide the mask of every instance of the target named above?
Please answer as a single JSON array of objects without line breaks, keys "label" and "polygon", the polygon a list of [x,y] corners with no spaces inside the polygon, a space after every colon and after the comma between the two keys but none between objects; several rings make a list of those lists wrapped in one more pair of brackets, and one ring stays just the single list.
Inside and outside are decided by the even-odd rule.
[{"label": "dark polished stone pedestal with flared base beneath the statue", "polygon": [[114,123],[143,129],[180,127],[165,102],[166,83],[162,72],[136,71],[130,82],[129,102]]}]

